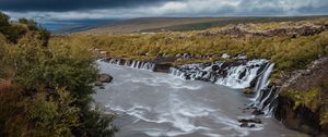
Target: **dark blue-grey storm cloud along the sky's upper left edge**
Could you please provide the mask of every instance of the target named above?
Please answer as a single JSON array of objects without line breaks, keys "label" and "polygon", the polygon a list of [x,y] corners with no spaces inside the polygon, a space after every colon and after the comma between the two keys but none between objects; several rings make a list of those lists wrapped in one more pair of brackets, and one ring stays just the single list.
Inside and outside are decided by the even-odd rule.
[{"label": "dark blue-grey storm cloud along the sky's upper left edge", "polygon": [[174,0],[0,0],[0,10],[11,12],[94,10],[154,5]]}]

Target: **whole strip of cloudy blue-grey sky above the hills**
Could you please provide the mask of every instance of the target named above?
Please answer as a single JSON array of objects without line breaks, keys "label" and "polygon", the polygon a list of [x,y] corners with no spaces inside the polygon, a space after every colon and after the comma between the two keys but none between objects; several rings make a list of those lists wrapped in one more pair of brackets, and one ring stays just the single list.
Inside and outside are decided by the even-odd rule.
[{"label": "whole strip of cloudy blue-grey sky above the hills", "polygon": [[42,23],[150,16],[327,15],[328,0],[0,0],[0,11]]}]

